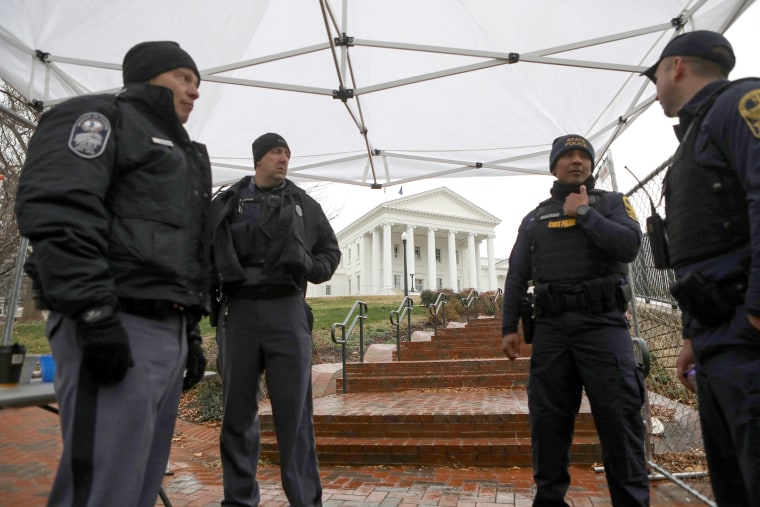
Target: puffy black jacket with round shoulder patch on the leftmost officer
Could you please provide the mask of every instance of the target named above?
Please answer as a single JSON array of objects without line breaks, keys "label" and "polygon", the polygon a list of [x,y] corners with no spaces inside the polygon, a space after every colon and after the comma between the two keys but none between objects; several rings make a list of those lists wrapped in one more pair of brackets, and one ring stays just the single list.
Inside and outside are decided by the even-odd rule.
[{"label": "puffy black jacket with round shoulder patch on the leftmost officer", "polygon": [[205,309],[211,167],[170,89],[130,84],[46,112],[16,197],[42,304],[76,316],[118,298]]}]

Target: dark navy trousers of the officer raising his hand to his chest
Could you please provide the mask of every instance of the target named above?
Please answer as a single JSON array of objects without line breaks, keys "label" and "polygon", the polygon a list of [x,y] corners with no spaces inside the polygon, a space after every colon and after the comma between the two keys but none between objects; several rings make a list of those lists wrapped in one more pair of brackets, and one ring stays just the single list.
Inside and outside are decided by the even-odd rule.
[{"label": "dark navy trousers of the officer raising his hand to his chest", "polygon": [[585,388],[615,506],[649,505],[643,377],[619,312],[573,311],[536,320],[528,406],[534,506],[567,506],[570,448]]}]

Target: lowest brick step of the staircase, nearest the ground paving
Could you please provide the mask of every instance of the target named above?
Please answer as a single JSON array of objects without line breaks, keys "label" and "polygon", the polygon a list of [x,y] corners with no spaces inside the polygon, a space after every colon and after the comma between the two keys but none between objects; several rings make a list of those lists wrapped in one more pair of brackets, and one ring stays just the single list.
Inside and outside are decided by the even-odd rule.
[{"label": "lowest brick step of the staircase, nearest the ground paving", "polygon": [[[317,438],[320,464],[530,467],[529,438]],[[279,463],[274,437],[261,439],[261,457]],[[602,461],[601,445],[593,437],[576,436],[570,454],[573,465]]]}]

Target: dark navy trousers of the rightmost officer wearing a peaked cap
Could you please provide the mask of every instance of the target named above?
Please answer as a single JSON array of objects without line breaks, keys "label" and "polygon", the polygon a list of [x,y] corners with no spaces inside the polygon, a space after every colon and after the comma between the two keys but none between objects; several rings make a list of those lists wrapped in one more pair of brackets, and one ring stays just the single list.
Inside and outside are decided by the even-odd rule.
[{"label": "dark navy trousers of the rightmost officer wearing a peaked cap", "polygon": [[[730,340],[730,345],[721,345]],[[739,307],[692,337],[707,466],[720,506],[760,505],[760,331]]]}]

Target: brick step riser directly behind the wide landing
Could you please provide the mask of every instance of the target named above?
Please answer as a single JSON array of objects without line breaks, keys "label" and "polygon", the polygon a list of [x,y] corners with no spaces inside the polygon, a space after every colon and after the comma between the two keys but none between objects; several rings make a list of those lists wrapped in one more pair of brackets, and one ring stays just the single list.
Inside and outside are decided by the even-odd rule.
[{"label": "brick step riser directly behind the wide landing", "polygon": [[[430,374],[368,375],[346,378],[349,392],[407,391],[412,389],[440,389],[457,387],[490,387],[504,389],[524,388],[528,384],[527,372],[514,373],[447,373],[445,376]],[[335,392],[343,392],[343,378],[335,379]]]}]

